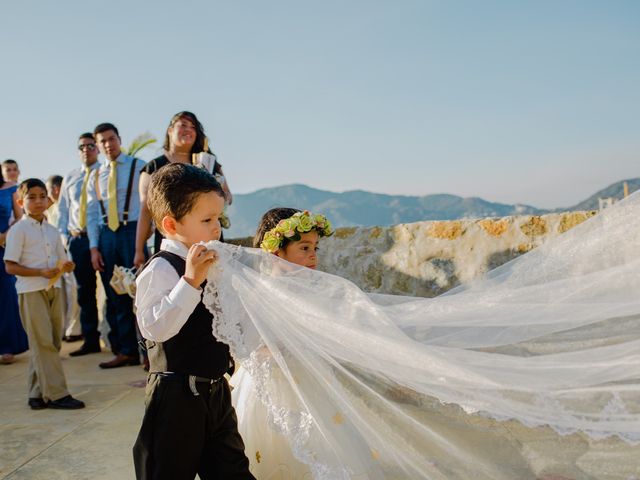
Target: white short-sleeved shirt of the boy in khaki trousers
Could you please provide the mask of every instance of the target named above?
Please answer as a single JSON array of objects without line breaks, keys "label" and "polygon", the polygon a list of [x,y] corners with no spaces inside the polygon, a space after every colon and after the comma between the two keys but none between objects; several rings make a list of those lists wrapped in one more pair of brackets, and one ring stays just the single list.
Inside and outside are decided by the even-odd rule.
[{"label": "white short-sleeved shirt of the boy in khaki trousers", "polygon": [[[16,262],[28,268],[55,268],[58,260],[67,261],[67,253],[60,240],[60,232],[47,220],[39,222],[24,215],[9,229],[4,260]],[[49,279],[16,275],[18,293],[45,290]],[[60,279],[54,287],[60,287]]]}]

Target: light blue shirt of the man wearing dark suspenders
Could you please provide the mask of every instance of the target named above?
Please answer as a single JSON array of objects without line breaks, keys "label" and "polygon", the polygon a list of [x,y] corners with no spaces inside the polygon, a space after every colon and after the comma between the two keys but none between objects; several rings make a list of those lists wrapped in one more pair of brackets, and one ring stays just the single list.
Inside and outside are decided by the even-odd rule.
[{"label": "light blue shirt of the man wearing dark suspenders", "polygon": [[[131,162],[134,161],[133,157],[121,153],[116,159],[117,171],[116,171],[116,184],[117,184],[117,196],[118,196],[118,218],[122,222],[122,214],[124,212],[125,199],[127,197],[127,185],[129,184],[129,173],[131,172]],[[138,182],[140,180],[140,170],[146,162],[140,159],[135,159],[136,166],[133,171],[133,184],[131,186],[131,199],[129,201],[129,222],[135,222],[140,215],[140,194],[138,193]],[[98,247],[98,238],[100,235],[100,225],[105,224],[106,221],[102,218],[102,210],[100,209],[100,202],[96,192],[96,183],[100,189],[100,197],[104,204],[105,212],[109,211],[109,173],[111,172],[111,162],[105,159],[100,169],[91,174],[89,182],[89,188],[87,190],[87,235],[89,236],[89,248]],[[96,182],[96,175],[98,175],[98,181]]]}]

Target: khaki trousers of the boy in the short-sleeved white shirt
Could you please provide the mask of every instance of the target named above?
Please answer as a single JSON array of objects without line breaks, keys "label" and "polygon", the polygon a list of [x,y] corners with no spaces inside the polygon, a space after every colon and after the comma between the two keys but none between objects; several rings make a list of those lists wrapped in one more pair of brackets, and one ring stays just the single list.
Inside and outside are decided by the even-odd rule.
[{"label": "khaki trousers of the boy in the short-sleeved white shirt", "polygon": [[22,325],[29,338],[29,398],[58,400],[69,394],[60,362],[62,292],[59,288],[18,295]]}]

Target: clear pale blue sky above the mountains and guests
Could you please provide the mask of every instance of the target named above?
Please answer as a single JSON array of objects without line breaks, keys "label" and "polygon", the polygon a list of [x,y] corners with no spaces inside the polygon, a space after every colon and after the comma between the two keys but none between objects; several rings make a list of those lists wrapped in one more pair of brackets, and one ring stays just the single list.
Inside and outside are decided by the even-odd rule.
[{"label": "clear pale blue sky above the mountains and guests", "polygon": [[235,193],[559,207],[640,176],[637,1],[22,0],[0,53],[0,159],[25,177],[74,168],[100,122],[126,144],[184,109]]}]

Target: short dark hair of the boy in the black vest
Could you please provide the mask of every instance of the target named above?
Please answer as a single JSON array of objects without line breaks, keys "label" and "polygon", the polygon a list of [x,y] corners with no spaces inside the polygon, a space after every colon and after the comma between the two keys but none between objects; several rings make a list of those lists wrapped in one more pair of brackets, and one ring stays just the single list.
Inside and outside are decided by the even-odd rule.
[{"label": "short dark hair of the boy in the black vest", "polygon": [[156,227],[166,216],[181,220],[203,193],[216,192],[224,198],[222,186],[206,170],[184,163],[165,165],[151,176],[147,205]]}]

